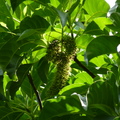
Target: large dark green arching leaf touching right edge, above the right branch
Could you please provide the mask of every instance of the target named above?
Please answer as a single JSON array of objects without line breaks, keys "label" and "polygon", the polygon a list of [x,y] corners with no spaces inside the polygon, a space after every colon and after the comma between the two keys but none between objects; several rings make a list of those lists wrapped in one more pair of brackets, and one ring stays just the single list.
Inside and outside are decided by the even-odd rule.
[{"label": "large dark green arching leaf touching right edge, above the right branch", "polygon": [[87,46],[86,62],[99,55],[117,52],[117,46],[119,44],[119,37],[116,36],[100,36],[94,38]]}]

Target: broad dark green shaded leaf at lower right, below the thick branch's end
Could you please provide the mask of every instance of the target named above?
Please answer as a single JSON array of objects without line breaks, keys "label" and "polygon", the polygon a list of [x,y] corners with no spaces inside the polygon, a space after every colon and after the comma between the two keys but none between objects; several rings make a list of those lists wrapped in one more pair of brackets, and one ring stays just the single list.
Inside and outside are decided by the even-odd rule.
[{"label": "broad dark green shaded leaf at lower right, below the thick branch's end", "polygon": [[87,94],[89,108],[91,108],[94,104],[103,104],[109,106],[111,109],[114,109],[114,100],[111,89],[112,87],[107,82],[96,81],[93,83],[89,87]]}]

